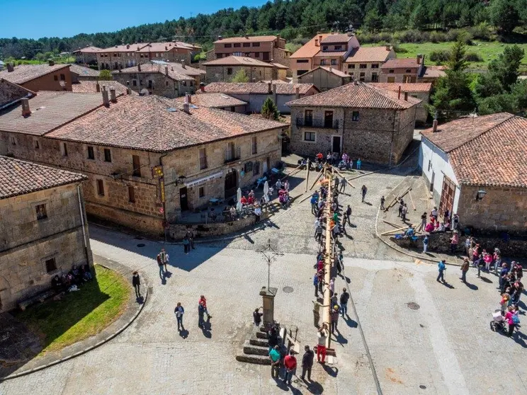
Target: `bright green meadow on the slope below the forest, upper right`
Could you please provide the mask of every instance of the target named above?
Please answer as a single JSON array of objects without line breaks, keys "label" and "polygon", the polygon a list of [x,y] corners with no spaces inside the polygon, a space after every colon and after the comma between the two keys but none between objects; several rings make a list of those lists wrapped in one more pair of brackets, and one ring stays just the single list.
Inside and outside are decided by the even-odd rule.
[{"label": "bright green meadow on the slope below the forest, upper right", "polygon": [[[471,62],[470,68],[471,69],[486,69],[487,64],[492,60],[496,59],[497,56],[503,52],[504,47],[506,44],[503,44],[502,42],[492,41],[492,42],[485,42],[485,41],[474,41],[475,45],[467,45],[467,53],[468,52],[475,52],[477,55],[480,55],[482,57],[483,62]],[[365,47],[370,47],[373,45],[382,45],[382,44],[366,44]],[[424,42],[422,44],[410,44],[410,43],[402,43],[399,45],[402,49],[406,50],[407,52],[397,52],[397,57],[399,58],[405,58],[405,57],[416,57],[417,54],[423,54],[425,55],[425,62],[426,64],[430,64],[430,53],[433,51],[441,51],[441,50],[450,50],[450,47],[452,47],[453,42]],[[527,71],[527,44],[518,44],[520,47],[523,48],[526,52],[526,56],[523,57],[523,61],[521,62],[520,69],[523,69],[524,71]],[[428,59],[428,61],[426,60]]]}]

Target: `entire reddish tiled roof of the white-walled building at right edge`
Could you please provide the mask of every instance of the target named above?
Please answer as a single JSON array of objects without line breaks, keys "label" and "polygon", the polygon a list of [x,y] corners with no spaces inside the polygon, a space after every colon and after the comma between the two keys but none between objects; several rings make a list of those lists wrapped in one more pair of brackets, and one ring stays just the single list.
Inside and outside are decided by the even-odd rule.
[{"label": "entire reddish tiled roof of the white-walled building at right edge", "polygon": [[[461,185],[527,188],[526,118],[508,113],[462,118],[441,125],[433,135],[423,132],[429,139],[441,134]],[[448,137],[455,142],[446,142]]]}]

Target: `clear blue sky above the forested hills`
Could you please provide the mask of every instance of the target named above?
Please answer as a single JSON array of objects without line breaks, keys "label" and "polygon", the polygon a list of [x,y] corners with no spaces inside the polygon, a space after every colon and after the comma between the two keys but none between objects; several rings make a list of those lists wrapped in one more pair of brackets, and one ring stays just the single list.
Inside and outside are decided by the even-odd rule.
[{"label": "clear blue sky above the forested hills", "polygon": [[70,37],[187,18],[266,0],[0,0],[0,38]]}]

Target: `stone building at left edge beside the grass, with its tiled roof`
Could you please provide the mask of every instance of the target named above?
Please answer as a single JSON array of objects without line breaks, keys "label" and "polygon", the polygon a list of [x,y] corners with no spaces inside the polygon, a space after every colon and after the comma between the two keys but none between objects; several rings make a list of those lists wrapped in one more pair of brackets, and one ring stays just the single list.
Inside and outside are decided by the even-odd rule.
[{"label": "stone building at left edge beside the grass, with its tiled roof", "polygon": [[0,313],[49,289],[72,265],[93,265],[86,178],[0,156]]}]

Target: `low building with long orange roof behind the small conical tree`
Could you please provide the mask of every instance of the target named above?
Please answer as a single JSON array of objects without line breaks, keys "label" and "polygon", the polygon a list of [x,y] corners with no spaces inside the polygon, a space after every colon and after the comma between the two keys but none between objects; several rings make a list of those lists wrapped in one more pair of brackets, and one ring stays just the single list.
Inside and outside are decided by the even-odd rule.
[{"label": "low building with long orange roof behind the small conical tree", "polygon": [[280,81],[213,82],[205,86],[204,90],[207,93],[225,93],[248,103],[246,110],[249,113],[259,113],[266,98],[272,98],[281,114],[290,113],[290,108],[285,103],[319,93],[313,84],[282,84]]}]

